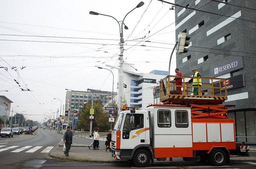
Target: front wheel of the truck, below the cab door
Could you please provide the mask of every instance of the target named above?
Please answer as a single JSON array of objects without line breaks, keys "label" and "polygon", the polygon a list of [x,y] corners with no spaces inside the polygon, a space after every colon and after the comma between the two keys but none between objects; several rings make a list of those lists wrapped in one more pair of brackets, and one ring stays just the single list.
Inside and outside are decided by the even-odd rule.
[{"label": "front wheel of the truck, below the cab door", "polygon": [[133,155],[133,164],[136,167],[147,167],[150,163],[151,157],[147,150],[140,149]]}]

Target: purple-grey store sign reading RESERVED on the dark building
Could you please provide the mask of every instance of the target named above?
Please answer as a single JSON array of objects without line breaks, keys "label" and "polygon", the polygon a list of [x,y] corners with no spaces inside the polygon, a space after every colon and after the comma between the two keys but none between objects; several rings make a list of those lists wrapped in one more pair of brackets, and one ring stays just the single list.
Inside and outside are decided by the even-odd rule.
[{"label": "purple-grey store sign reading RESERVED on the dark building", "polygon": [[224,75],[228,72],[239,70],[243,68],[243,58],[237,57],[230,59],[228,62],[220,63],[211,68],[212,77]]}]

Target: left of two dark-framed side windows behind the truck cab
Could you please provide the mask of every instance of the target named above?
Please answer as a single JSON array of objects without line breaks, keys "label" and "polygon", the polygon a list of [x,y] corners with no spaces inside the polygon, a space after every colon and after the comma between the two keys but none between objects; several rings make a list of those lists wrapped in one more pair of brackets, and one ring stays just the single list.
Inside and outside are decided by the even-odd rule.
[{"label": "left of two dark-framed side windows behind the truck cab", "polygon": [[171,127],[171,111],[170,110],[157,111],[157,126]]}]

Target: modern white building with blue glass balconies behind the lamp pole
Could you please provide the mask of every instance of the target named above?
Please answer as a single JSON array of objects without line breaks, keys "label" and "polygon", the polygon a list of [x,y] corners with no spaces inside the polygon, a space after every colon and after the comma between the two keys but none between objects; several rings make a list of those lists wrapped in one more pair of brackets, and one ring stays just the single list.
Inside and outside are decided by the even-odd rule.
[{"label": "modern white building with blue glass balconies behind the lamp pole", "polygon": [[[160,79],[168,75],[168,71],[152,70],[150,73],[136,73],[134,67],[134,64],[127,62],[123,66],[126,88],[124,88],[122,104],[126,103],[128,107],[140,107],[143,110],[154,103],[152,88]],[[119,68],[115,67],[115,69],[119,71]]]}]

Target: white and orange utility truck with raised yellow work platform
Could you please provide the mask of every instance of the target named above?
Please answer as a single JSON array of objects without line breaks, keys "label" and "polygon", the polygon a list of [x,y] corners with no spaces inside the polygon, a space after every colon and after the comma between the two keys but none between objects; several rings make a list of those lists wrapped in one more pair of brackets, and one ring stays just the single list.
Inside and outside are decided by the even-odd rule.
[{"label": "white and orange utility truck with raised yellow work platform", "polygon": [[248,156],[236,145],[234,120],[227,118],[228,108],[234,105],[222,104],[227,100],[226,79],[202,78],[208,83],[197,86],[199,95],[191,95],[190,88],[196,87],[186,83],[191,77],[180,77],[183,92],[175,95],[171,94],[177,87],[173,77],[160,81],[163,105],[118,114],[111,155],[137,167],[174,157],[220,166],[229,162],[230,155]]}]

